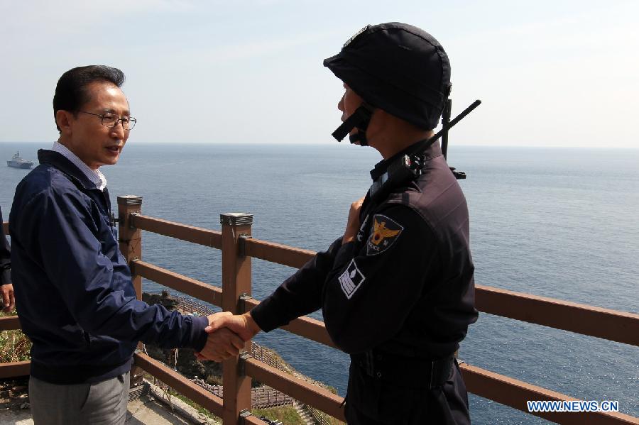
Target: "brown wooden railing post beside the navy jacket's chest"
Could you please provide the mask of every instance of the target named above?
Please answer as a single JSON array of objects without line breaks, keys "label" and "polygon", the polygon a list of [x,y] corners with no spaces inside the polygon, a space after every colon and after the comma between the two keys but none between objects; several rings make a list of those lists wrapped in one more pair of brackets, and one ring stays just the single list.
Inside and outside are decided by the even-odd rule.
[{"label": "brown wooden railing post beside the navy jacket's chest", "polygon": [[[118,197],[118,242],[120,252],[126,258],[126,263],[131,267],[131,260],[142,259],[142,231],[131,226],[131,213],[140,214],[142,210],[142,197],[124,195]],[[131,275],[133,287],[136,289],[138,299],[142,299],[142,277]],[[142,349],[142,343],[138,343]],[[137,366],[131,368],[131,387],[142,383],[142,369]]]}]

